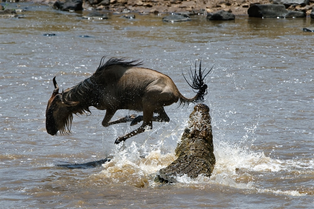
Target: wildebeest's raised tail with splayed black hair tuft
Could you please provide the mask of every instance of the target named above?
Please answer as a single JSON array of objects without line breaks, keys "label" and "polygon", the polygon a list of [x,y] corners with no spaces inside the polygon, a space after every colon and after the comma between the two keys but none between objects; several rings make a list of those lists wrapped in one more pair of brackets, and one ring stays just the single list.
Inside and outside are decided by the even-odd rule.
[{"label": "wildebeest's raised tail with splayed black hair tuft", "polygon": [[183,95],[180,95],[179,106],[181,104],[183,104],[183,106],[186,104],[188,105],[190,102],[193,102],[193,103],[204,102],[204,96],[207,95],[207,93],[208,93],[207,85],[204,83],[204,79],[208,75],[208,73],[213,69],[213,67],[205,74],[206,68],[205,68],[205,70],[202,71],[201,70],[201,64],[202,64],[202,60],[199,63],[198,72],[196,69],[196,61],[195,61],[194,72],[193,72],[191,65],[190,65],[189,76],[190,76],[192,83],[187,81],[187,78],[184,76],[183,71],[182,71],[182,75],[183,75],[184,79],[187,81],[188,85],[192,87],[192,89],[196,93],[196,95],[193,98],[186,98]]}]

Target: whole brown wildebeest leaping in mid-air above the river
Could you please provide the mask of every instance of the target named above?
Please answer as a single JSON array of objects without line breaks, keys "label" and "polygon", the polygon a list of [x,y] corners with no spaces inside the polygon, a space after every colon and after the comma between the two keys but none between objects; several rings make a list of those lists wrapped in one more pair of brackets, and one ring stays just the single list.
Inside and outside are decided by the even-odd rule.
[{"label": "whole brown wildebeest leaping in mid-air above the river", "polygon": [[[143,121],[136,130],[116,139],[115,144],[125,141],[145,131],[146,127],[152,128],[153,121],[169,122],[170,118],[165,112],[164,106],[171,105],[180,100],[179,106],[190,102],[203,102],[207,94],[207,85],[204,83],[206,74],[201,70],[201,62],[198,72],[196,62],[194,72],[191,69],[189,76],[193,91],[197,92],[195,97],[184,97],[169,76],[149,68],[140,67],[142,62],[138,60],[125,61],[124,58],[111,58],[104,64],[102,57],[96,72],[78,83],[77,85],[62,90],[56,77],[53,78],[55,89],[50,97],[46,109],[46,130],[51,135],[69,134],[73,114],[86,114],[93,106],[99,110],[106,110],[102,125],[107,127],[117,123],[131,122],[131,126]],[[136,63],[138,62],[138,63]],[[183,74],[183,72],[182,72]],[[184,76],[184,75],[183,75]],[[117,110],[128,109],[143,111],[143,115],[130,115],[115,121],[110,121]],[[154,116],[154,114],[156,116]]]}]

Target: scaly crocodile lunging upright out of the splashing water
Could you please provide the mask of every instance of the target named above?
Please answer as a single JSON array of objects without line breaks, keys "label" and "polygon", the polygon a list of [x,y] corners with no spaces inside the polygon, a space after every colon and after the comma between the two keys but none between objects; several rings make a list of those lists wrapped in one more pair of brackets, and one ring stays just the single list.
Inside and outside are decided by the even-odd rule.
[{"label": "scaly crocodile lunging upright out of the splashing water", "polygon": [[177,159],[157,172],[157,179],[164,183],[177,182],[176,176],[198,175],[210,177],[216,163],[209,107],[198,104],[190,115],[188,127],[176,147]]}]

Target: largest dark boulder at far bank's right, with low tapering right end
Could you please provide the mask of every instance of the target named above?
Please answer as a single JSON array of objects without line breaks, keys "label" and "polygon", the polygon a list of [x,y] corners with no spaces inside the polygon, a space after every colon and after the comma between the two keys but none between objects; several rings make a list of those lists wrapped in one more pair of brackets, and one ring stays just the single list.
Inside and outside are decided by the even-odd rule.
[{"label": "largest dark boulder at far bank's right, with low tapering right end", "polygon": [[306,17],[306,13],[286,10],[283,4],[254,4],[248,10],[249,17],[290,18]]}]

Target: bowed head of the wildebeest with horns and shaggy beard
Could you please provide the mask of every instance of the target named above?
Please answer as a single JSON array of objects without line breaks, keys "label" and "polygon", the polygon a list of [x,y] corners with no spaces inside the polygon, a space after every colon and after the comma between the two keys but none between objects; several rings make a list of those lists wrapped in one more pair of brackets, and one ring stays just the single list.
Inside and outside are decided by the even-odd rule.
[{"label": "bowed head of the wildebeest with horns and shaggy beard", "polygon": [[46,130],[50,135],[60,133],[70,133],[73,119],[73,107],[79,102],[66,101],[63,91],[59,93],[59,86],[56,77],[53,78],[55,90],[52,92],[46,108]]}]

